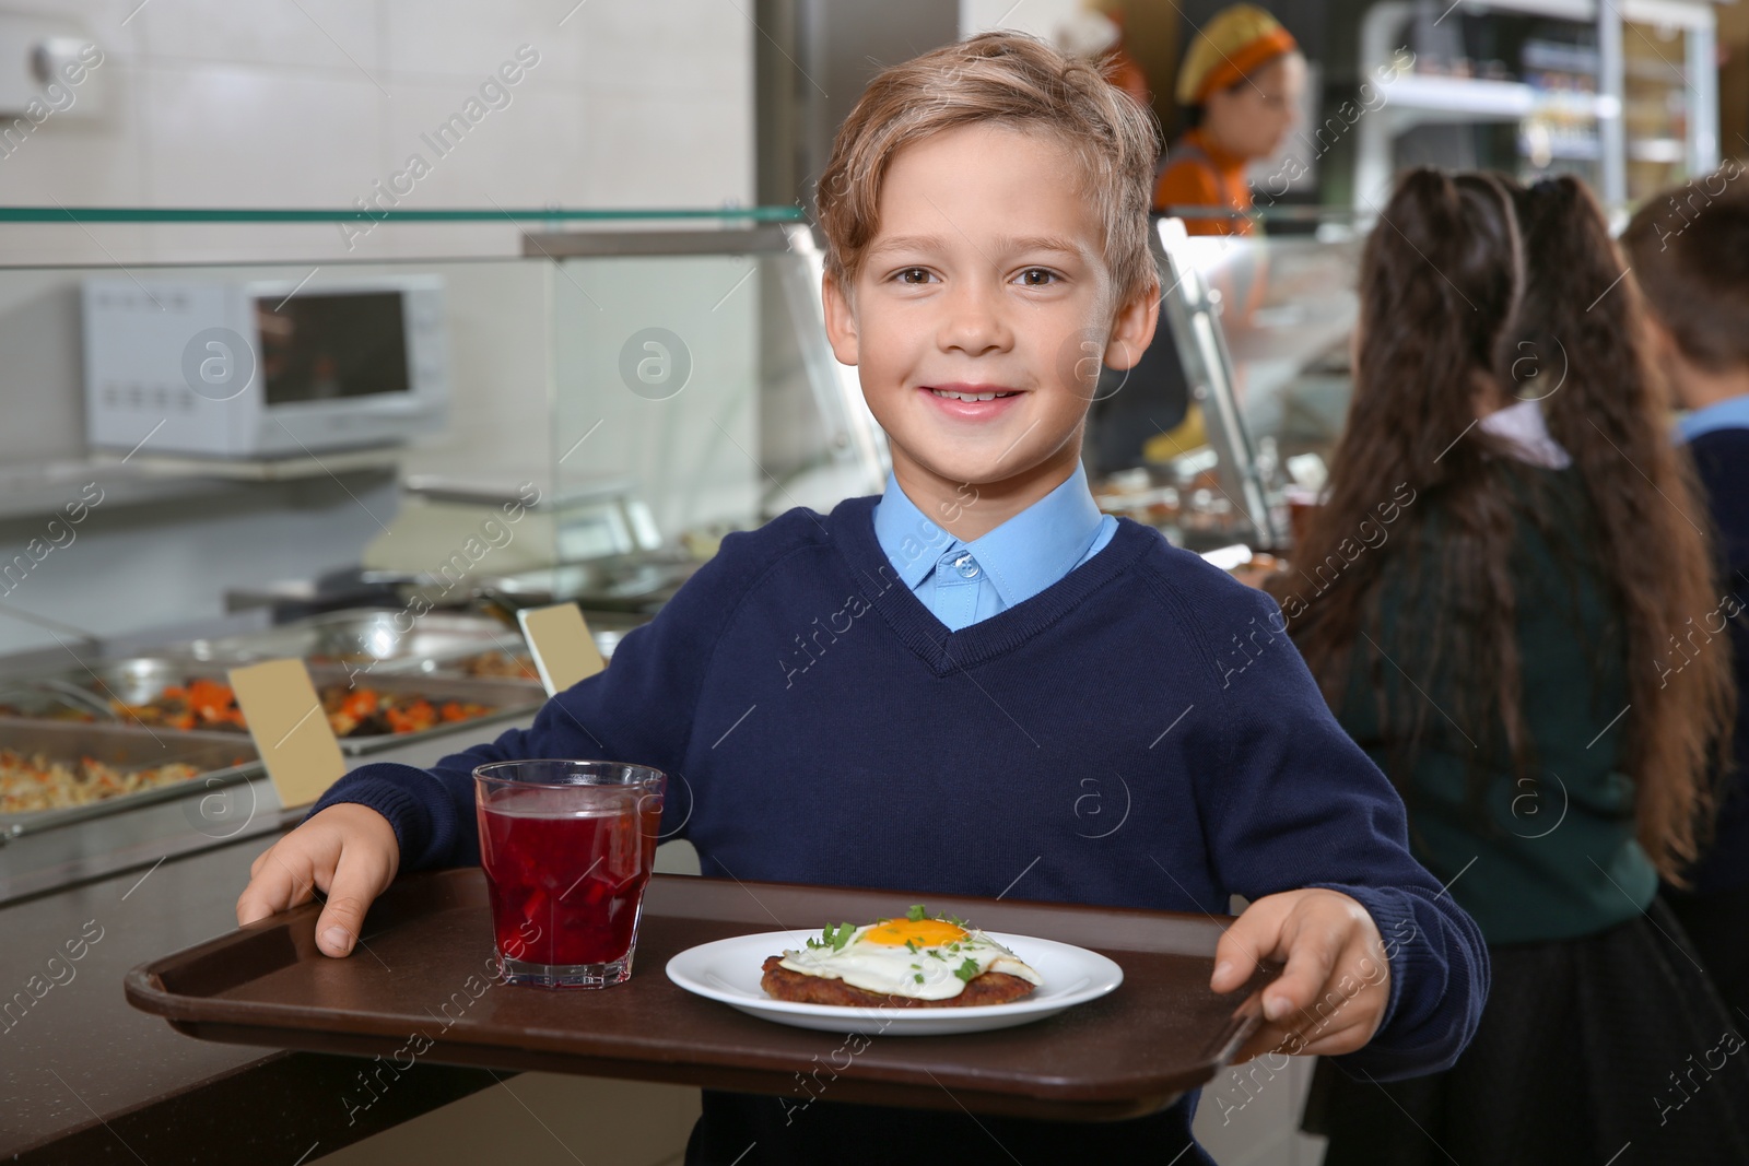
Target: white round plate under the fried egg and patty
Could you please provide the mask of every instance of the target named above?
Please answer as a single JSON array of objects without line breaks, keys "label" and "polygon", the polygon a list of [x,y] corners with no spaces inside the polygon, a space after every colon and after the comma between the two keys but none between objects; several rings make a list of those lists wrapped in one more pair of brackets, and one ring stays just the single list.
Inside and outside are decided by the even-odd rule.
[{"label": "white round plate under the fried egg and patty", "polygon": [[719,939],[687,947],[668,960],[668,979],[680,988],[778,1024],[815,1028],[827,1033],[885,1033],[894,1037],[937,1037],[976,1033],[990,1028],[1030,1024],[1063,1009],[1098,1000],[1123,982],[1123,968],[1086,947],[1055,939],[986,932],[1032,965],[1044,984],[1014,1003],[983,1003],[967,1009],[857,1009],[826,1003],[773,1000],[759,988],[766,956],[805,947],[812,932],[763,932]]}]

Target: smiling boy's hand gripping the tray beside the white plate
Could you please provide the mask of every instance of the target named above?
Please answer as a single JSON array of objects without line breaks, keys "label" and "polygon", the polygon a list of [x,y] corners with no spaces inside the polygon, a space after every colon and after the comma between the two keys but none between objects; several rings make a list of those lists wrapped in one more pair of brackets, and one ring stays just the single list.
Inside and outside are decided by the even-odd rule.
[{"label": "smiling boy's hand gripping the tray beside the white plate", "polygon": [[1226,928],[1214,953],[1216,991],[1242,988],[1261,960],[1286,961],[1263,989],[1265,1024],[1233,1058],[1354,1052],[1390,1000],[1390,961],[1373,916],[1333,890],[1265,895]]}]

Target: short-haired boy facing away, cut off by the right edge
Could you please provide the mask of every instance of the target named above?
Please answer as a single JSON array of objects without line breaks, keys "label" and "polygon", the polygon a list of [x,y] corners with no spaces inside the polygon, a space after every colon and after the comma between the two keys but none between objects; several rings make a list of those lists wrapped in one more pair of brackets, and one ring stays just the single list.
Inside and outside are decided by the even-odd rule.
[{"label": "short-haired boy facing away, cut off by the right edge", "polygon": [[[1665,668],[1716,652],[1730,628],[1737,687],[1749,692],[1749,177],[1740,163],[1641,208],[1621,236],[1646,294],[1651,350],[1688,409],[1677,441],[1695,456],[1719,537],[1719,607],[1691,621]],[[1665,899],[1725,1003],[1749,1012],[1749,699],[1737,704],[1737,774],[1690,890]]]}]

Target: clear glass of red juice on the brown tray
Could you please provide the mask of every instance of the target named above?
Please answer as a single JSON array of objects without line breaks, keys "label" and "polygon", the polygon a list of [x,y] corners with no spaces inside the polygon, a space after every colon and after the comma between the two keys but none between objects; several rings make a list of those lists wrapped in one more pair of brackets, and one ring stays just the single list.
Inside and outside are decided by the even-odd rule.
[{"label": "clear glass of red juice on the brown tray", "polygon": [[610,988],[631,975],[666,785],[659,769],[617,760],[474,769],[504,982]]}]

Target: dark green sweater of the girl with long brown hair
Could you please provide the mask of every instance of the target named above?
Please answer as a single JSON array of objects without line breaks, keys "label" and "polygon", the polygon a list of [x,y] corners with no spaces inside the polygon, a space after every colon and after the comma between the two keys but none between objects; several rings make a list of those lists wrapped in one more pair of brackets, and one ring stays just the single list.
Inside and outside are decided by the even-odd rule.
[{"label": "dark green sweater of the girl with long brown hair", "polygon": [[[1439,675],[1404,673],[1392,663],[1368,668],[1364,640],[1355,649],[1348,691],[1338,718],[1366,752],[1399,783],[1410,806],[1415,857],[1481,925],[1490,944],[1516,944],[1590,935],[1639,914],[1656,893],[1658,878],[1635,841],[1634,778],[1621,771],[1621,743],[1632,711],[1627,698],[1627,647],[1621,617],[1604,586],[1595,552],[1590,503],[1576,470],[1541,470],[1497,463],[1520,502],[1511,579],[1522,668],[1522,706],[1534,741],[1539,780],[1520,778],[1504,746],[1504,725],[1453,724],[1453,685]],[[1523,512],[1530,484],[1546,488],[1560,514],[1550,537]],[[1422,528],[1439,538],[1436,498]],[[1385,652],[1399,636],[1429,628],[1431,612],[1403,626],[1408,561],[1403,545],[1390,554],[1380,589]],[[1415,570],[1438,570],[1420,556]],[[1425,596],[1425,591],[1422,593]],[[1425,603],[1425,600],[1424,600]],[[1401,629],[1401,631],[1399,631]],[[1380,729],[1376,694],[1431,701],[1424,748],[1408,774],[1392,773],[1392,743]],[[1443,710],[1443,711],[1439,711]],[[1467,795],[1469,766],[1485,759],[1485,795]],[[1408,778],[1406,781],[1403,778]]]}]

